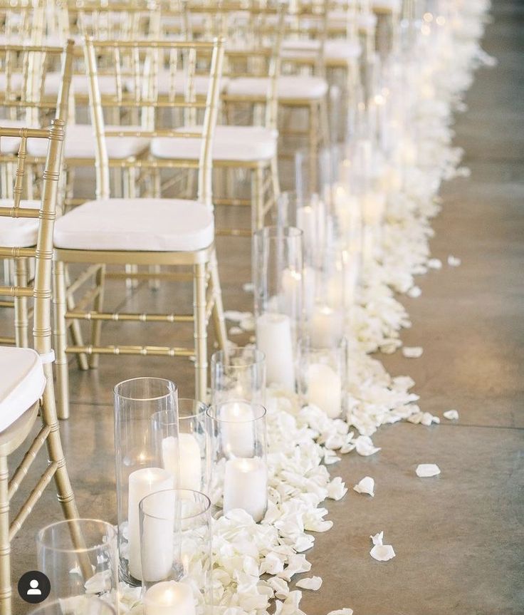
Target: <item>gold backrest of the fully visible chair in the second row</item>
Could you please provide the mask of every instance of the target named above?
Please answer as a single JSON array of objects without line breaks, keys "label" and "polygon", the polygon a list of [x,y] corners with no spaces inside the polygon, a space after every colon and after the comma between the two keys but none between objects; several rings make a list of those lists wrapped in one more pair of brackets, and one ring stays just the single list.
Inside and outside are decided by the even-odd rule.
[{"label": "gold backrest of the fully visible chair in the second row", "polygon": [[[219,103],[219,78],[224,59],[224,41],[93,41],[86,38],[85,63],[90,77],[90,108],[97,138],[97,197],[110,196],[108,137],[177,137],[201,140],[194,160],[140,160],[140,167],[197,168],[198,199],[211,207],[211,145]],[[208,66],[206,100],[196,96],[196,68]],[[180,78],[182,76],[182,79]],[[111,79],[114,93],[100,93],[100,79]],[[162,83],[159,83],[162,80]],[[160,91],[167,95],[160,96]],[[203,113],[202,131],[160,127],[163,110],[180,110],[180,126],[187,113]],[[117,130],[106,128],[105,115],[117,120]],[[127,123],[127,125],[126,125]],[[122,163],[125,165],[125,161]],[[133,161],[132,165],[137,165]]]}]

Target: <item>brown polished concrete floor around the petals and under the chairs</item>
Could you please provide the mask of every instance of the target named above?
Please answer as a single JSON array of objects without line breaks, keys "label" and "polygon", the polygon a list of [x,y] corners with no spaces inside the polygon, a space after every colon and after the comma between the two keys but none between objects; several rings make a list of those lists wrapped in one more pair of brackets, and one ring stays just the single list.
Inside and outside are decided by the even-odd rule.
[{"label": "brown polished concrete floor around the petals and under the chairs", "polygon": [[[347,455],[332,467],[350,487],[371,475],[376,495],[350,490],[327,505],[335,527],[308,554],[323,577],[320,591],[304,591],[309,615],[343,606],[356,615],[524,612],[524,4],[494,0],[493,15],[483,46],[498,66],[478,71],[469,110],[456,120],[471,178],[444,186],[431,242],[435,257],[454,254],[462,264],[421,277],[422,296],[402,299],[413,321],[402,337],[423,356],[381,357],[394,375],[414,378],[423,410],[456,408],[460,419],[382,428],[377,455]],[[243,239],[219,241],[228,309],[251,309],[239,291],[250,277],[247,254]],[[189,301],[189,292],[142,287],[126,298],[114,285],[108,301],[152,310],[175,299]],[[171,327],[157,326],[158,335]],[[127,339],[141,335],[124,327]],[[98,371],[71,371],[72,416],[61,428],[82,515],[115,520],[112,386],[147,374],[192,395],[192,366],[180,360],[104,358]],[[437,463],[441,475],[416,479],[421,462]],[[36,530],[59,518],[48,490],[14,540],[14,580],[36,565]],[[397,553],[387,563],[369,555],[370,534],[380,530]]]}]

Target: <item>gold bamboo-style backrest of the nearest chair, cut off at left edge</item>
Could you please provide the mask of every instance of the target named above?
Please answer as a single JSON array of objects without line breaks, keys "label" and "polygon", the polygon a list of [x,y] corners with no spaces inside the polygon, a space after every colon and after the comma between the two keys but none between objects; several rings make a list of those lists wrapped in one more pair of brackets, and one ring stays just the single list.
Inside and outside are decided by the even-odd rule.
[{"label": "gold bamboo-style backrest of the nearest chair, cut off at left edge", "polygon": [[[50,128],[5,128],[0,122],[0,152],[4,138],[19,138],[20,145],[16,155],[16,173],[14,179],[11,207],[0,207],[0,217],[14,219],[38,219],[38,237],[36,247],[0,247],[0,258],[35,259],[35,277],[32,286],[0,286],[0,295],[13,297],[33,297],[33,338],[34,348],[42,356],[51,355],[51,267],[53,262],[53,227],[56,217],[58,180],[61,171],[62,146],[67,116],[70,70],[73,43],[63,51],[62,86],[56,103],[56,118]],[[23,178],[26,172],[27,142],[30,139],[48,141],[46,162],[41,178],[40,202],[36,207],[21,207],[23,196]],[[44,362],[45,358],[44,358]],[[51,376],[48,371],[46,374]]]}]

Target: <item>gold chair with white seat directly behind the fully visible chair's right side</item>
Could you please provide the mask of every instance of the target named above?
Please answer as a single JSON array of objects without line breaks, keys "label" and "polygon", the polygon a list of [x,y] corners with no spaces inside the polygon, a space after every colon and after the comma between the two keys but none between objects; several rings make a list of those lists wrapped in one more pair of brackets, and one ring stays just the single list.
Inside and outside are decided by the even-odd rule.
[{"label": "gold chair with white seat directly behind the fully visible chair's right side", "polygon": [[[251,229],[217,229],[217,234],[251,237],[253,230],[263,226],[266,214],[276,203],[280,192],[276,82],[280,73],[283,5],[279,4],[276,9],[261,8],[254,2],[248,6],[244,2],[187,6],[189,11],[183,16],[184,23],[189,28],[191,24],[198,25],[197,33],[192,38],[226,38],[221,95],[222,115],[226,122],[216,125],[214,169],[226,173],[246,170],[251,175],[250,200],[229,194],[218,198],[214,191],[214,205],[251,205]],[[166,11],[163,13],[165,15]],[[258,83],[254,93],[228,93],[228,84],[246,76]],[[168,85],[169,79],[164,80],[164,96],[169,95]],[[201,95],[206,88],[205,79],[200,78],[195,86],[196,95]],[[228,121],[230,118],[233,118],[233,123]],[[181,130],[189,128],[194,129],[186,126]],[[198,157],[198,148],[199,144],[194,143],[194,158]],[[185,143],[169,138],[153,139],[151,152],[158,158],[190,156]]]}]

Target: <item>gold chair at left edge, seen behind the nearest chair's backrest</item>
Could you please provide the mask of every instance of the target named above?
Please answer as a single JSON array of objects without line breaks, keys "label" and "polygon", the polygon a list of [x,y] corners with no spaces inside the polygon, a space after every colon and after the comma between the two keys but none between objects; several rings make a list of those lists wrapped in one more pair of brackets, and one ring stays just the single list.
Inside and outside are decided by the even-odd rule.
[{"label": "gold chair at left edge, seen behind the nearest chair's backrest", "polygon": [[[73,53],[72,43],[68,46],[68,53]],[[43,94],[48,73],[59,68],[63,58],[62,47],[44,47],[28,45],[0,46],[0,67],[3,69],[4,88],[0,91],[0,125],[5,128],[21,128],[29,126],[40,128],[48,126],[51,118],[66,121],[67,105],[57,96],[46,97]],[[30,140],[31,141],[31,140]],[[33,157],[28,152],[30,142],[27,144],[24,190],[29,199],[33,200],[36,175],[41,173],[41,167],[46,162],[46,141],[42,142],[41,153]],[[16,176],[17,153],[19,151],[19,138],[4,138],[0,154],[0,205],[6,207],[14,198],[13,182]],[[38,207],[38,203],[28,202],[26,205]],[[15,242],[23,247],[36,245],[38,233],[37,220],[13,221],[0,218],[0,243]],[[9,264],[9,259],[4,263]],[[29,259],[16,259],[14,276],[7,275],[6,280],[14,279],[15,284],[26,285],[30,273],[31,261]],[[15,336],[2,337],[0,343],[16,343],[17,346],[28,346],[28,299],[25,296],[15,296],[6,299],[0,306],[13,306],[15,311]]]}]

